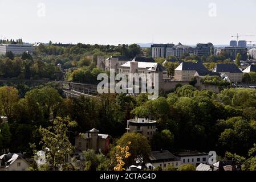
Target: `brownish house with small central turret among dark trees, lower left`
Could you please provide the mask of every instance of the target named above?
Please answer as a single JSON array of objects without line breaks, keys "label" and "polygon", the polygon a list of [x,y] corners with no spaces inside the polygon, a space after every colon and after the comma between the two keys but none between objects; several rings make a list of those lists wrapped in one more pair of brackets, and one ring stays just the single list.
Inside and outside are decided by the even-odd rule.
[{"label": "brownish house with small central turret among dark trees, lower left", "polygon": [[109,135],[99,134],[99,130],[92,129],[75,138],[75,148],[78,151],[93,149],[95,152],[106,152],[109,149]]}]

